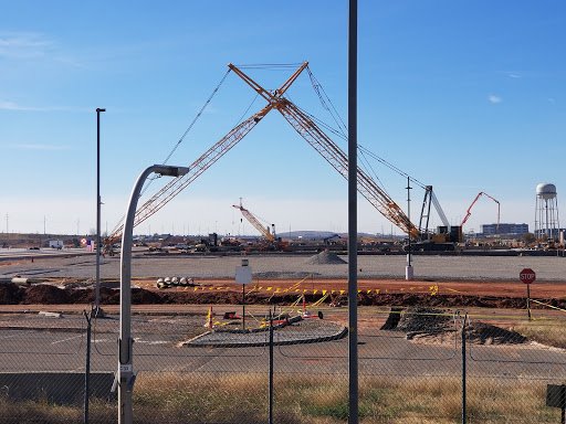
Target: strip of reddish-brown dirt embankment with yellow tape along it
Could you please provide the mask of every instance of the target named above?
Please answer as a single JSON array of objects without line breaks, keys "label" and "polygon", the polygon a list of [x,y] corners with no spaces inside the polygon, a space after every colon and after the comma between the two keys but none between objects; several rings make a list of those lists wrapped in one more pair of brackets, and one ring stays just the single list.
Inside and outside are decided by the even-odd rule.
[{"label": "strip of reddish-brown dirt embankment with yellow tape along it", "polygon": [[[321,299],[322,293],[335,292],[335,300],[347,304],[347,284],[326,282],[327,289],[303,288],[297,293],[291,283],[264,282],[261,287],[250,287],[245,294],[248,305],[291,305],[297,296],[304,294],[307,304]],[[415,283],[415,282],[412,282]],[[272,286],[269,286],[272,284]],[[321,284],[321,283],[318,283]],[[432,285],[431,285],[432,284]],[[429,282],[415,283],[408,286],[407,282],[361,282],[358,286],[358,304],[360,306],[429,306],[429,307],[486,307],[486,308],[525,308],[526,299],[521,290],[511,290],[499,283],[497,287],[480,283],[447,283],[434,284]],[[512,283],[510,283],[511,285]],[[139,283],[143,286],[142,283]],[[513,283],[513,286],[516,284]],[[268,290],[268,286],[270,290]],[[451,287],[455,288],[451,288]],[[501,287],[500,287],[501,286]],[[200,286],[187,289],[177,287],[158,290],[149,283],[146,288],[132,289],[133,305],[239,305],[242,303],[241,286],[233,282],[201,282]],[[277,287],[277,288],[275,288]],[[336,287],[332,288],[331,287]],[[344,287],[344,288],[342,288]],[[379,287],[379,288],[377,288]],[[560,286],[562,288],[564,286]],[[432,290],[431,290],[432,288]],[[521,287],[523,288],[524,287]],[[547,287],[545,290],[553,290]],[[533,290],[535,292],[535,290]],[[537,300],[554,307],[566,309],[565,296],[536,296]],[[119,290],[101,287],[101,305],[118,305]],[[32,286],[18,286],[12,283],[0,285],[0,305],[67,305],[88,304],[95,301],[94,288],[61,288],[52,284],[36,284]],[[329,303],[329,299],[328,299]],[[538,304],[531,305],[533,308]],[[541,306],[543,307],[543,306]]]}]

